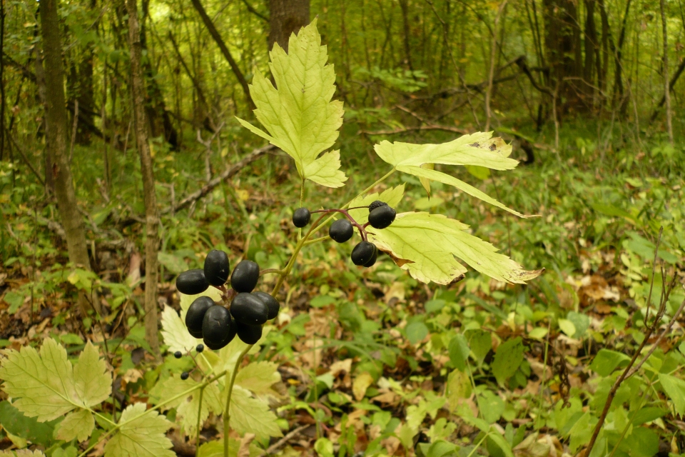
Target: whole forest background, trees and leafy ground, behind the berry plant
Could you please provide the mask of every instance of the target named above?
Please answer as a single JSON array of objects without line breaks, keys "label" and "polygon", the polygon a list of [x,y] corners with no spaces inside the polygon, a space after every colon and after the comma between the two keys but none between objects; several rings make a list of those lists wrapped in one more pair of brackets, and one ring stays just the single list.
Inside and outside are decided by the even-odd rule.
[{"label": "whole forest background, trees and leafy ground, behind the berry plant", "polygon": [[[359,194],[387,171],[375,144],[494,131],[519,167],[453,174],[541,217],[414,176],[371,190],[406,186],[398,212],[458,219],[544,275],[425,285],[389,256],[362,270],[352,246],[308,246],[248,356],[273,363],[285,438],[234,430],[231,455],[685,453],[682,1],[0,6],[0,349],[52,337],[71,357],[93,341],[114,379],[101,413],[155,404],[193,368],[160,338],[163,310],[181,307],[179,273],[212,248],[232,266],[283,268],[301,199],[330,208]],[[258,124],[253,76],[273,81],[269,51],[315,19],[345,109],[341,189],[300,187],[290,157],[235,119]],[[11,401],[0,392],[0,450],[107,453],[103,435],[57,439]],[[161,411],[178,422],[177,409]],[[219,411],[197,436],[166,432],[173,451],[220,455]]]}]

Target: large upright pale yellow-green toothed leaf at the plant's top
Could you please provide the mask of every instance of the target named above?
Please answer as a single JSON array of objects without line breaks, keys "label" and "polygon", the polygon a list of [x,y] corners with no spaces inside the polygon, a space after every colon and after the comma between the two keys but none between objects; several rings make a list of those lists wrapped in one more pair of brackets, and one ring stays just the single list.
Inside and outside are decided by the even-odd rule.
[{"label": "large upright pale yellow-green toothed leaf at the plant's top", "polygon": [[290,36],[288,54],[275,44],[269,56],[275,87],[259,71],[250,84],[255,116],[268,133],[238,121],[291,156],[303,179],[342,186],[347,178],[340,171],[340,154],[319,157],[338,139],[343,110],[341,101],[331,101],[335,71],[326,64],[326,46],[321,46],[316,20]]}]

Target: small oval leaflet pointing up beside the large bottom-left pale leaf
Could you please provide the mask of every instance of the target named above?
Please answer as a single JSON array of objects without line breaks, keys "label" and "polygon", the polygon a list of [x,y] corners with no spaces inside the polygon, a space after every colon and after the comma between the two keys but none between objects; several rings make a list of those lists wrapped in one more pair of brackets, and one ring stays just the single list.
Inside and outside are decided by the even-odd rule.
[{"label": "small oval leaflet pointing up beside the large bottom-left pale leaf", "polygon": [[99,405],[112,393],[112,376],[98,348],[90,341],[73,366],[73,381],[78,397],[88,407]]}]

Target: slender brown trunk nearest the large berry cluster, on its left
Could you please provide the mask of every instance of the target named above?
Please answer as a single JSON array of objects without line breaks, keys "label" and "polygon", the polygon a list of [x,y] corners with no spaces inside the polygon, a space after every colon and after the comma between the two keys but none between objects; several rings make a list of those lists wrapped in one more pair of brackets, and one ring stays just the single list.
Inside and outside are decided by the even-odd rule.
[{"label": "slender brown trunk nearest the large berry cluster, on its left", "polygon": [[157,197],[152,157],[148,144],[148,126],[145,117],[146,86],[141,67],[141,33],[138,28],[138,5],[136,0],[126,0],[128,9],[128,44],[131,59],[131,98],[133,99],[133,123],[136,144],[141,157],[143,194],[145,201],[145,338],[154,355],[159,355],[157,328],[157,252],[158,226]]}]

